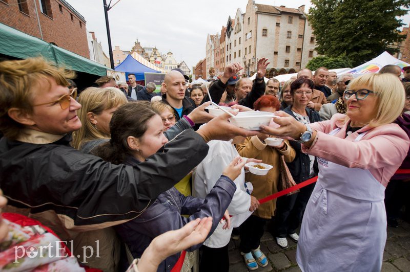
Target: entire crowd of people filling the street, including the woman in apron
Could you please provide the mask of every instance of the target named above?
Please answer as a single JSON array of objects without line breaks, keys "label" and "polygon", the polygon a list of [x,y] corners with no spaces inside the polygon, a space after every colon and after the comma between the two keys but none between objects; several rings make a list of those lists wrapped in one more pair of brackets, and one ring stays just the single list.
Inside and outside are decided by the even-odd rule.
[{"label": "entire crowd of people filling the street, including the woman in apron", "polygon": [[[232,235],[256,270],[269,264],[260,240],[270,221],[281,248],[298,244],[302,271],[379,271],[386,224],[397,227],[409,189],[410,175],[395,172],[410,168],[410,66],[403,79],[388,65],[265,82],[268,65],[258,60],[254,81],[239,63],[211,69],[202,85],[176,69],[159,92],[133,74],[129,85],[104,76],[77,97],[72,71],[42,58],[0,62],[0,258],[54,239],[72,241],[74,257],[25,258],[25,270],[228,271]],[[276,125],[234,126],[209,114],[211,101],[234,115],[270,112]],[[273,168],[256,175],[250,162]]]}]

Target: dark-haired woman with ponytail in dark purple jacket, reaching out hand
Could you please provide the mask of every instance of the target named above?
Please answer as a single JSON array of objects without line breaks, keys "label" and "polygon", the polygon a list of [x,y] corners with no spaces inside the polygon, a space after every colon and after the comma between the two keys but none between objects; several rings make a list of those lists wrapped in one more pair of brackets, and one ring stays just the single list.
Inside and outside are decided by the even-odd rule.
[{"label": "dark-haired woman with ponytail in dark purple jacket, reaching out hand", "polygon": [[[95,154],[114,164],[136,166],[150,161],[150,156],[168,142],[162,133],[160,116],[145,102],[132,102],[118,108],[112,117],[110,130],[111,141],[99,146]],[[140,216],[118,225],[117,233],[127,244],[133,257],[139,258],[156,236],[177,230],[196,218],[213,218],[211,235],[232,200],[236,190],[232,180],[240,174],[243,165],[244,162],[239,157],[236,158],[223,171],[205,199],[183,196],[173,187],[160,194]],[[181,214],[190,216],[186,218]],[[226,213],[225,217],[229,219],[229,214]],[[229,227],[229,220],[225,227]],[[188,251],[199,246],[200,244],[194,245]],[[158,271],[171,270],[179,256],[180,254],[175,254],[168,257],[159,265]]]}]

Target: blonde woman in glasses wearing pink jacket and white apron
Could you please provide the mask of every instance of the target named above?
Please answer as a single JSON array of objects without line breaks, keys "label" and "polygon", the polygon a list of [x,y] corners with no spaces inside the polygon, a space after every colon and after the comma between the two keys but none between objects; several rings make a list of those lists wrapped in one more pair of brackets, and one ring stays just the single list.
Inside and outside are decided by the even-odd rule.
[{"label": "blonde woman in glasses wearing pink jacket and white apron", "polygon": [[403,85],[365,74],[344,91],[346,115],[306,125],[283,112],[269,133],[300,141],[319,177],[303,216],[297,262],[303,271],[380,271],[386,242],[384,190],[407,155]]}]

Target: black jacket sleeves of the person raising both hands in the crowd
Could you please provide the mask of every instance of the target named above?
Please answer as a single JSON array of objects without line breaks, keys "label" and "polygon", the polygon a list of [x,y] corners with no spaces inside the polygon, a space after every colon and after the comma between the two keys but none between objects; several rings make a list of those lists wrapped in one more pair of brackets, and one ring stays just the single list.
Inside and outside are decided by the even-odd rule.
[{"label": "black jacket sleeves of the person raising both hands in the crowd", "polygon": [[[219,104],[222,98],[223,92],[225,92],[226,88],[227,88],[227,84],[223,84],[220,79],[218,79],[217,82],[212,84],[209,87],[209,93],[211,94],[212,101],[215,102],[216,104]],[[264,80],[260,82],[255,80],[253,82],[251,92],[245,98],[239,100],[239,105],[246,106],[246,107],[253,109],[253,103],[255,103],[255,101],[258,100],[259,97],[263,96],[263,94],[265,93],[265,89],[266,89],[266,84]],[[209,101],[208,95],[206,95],[202,99],[202,103],[205,103],[207,101]]]}]

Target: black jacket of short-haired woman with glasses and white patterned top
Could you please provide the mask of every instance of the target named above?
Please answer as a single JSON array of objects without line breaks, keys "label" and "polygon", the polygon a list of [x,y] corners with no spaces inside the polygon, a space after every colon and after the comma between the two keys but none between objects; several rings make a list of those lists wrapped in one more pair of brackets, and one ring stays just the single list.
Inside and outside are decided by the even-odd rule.
[{"label": "black jacket of short-haired woman with glasses and white patterned top", "polygon": [[[285,108],[283,111],[286,112],[286,114],[289,114],[295,117],[291,110],[291,106]],[[306,112],[308,112],[308,117],[311,123],[321,121],[319,113],[317,111],[312,110],[310,108],[306,108]],[[288,165],[289,171],[291,172],[292,177],[295,180],[295,183],[298,184],[310,177],[311,167],[310,167],[309,155],[301,151],[302,150],[301,144],[299,144],[298,142],[289,141],[289,144],[295,149],[296,156],[293,162],[286,163],[286,165]],[[315,163],[313,164],[313,169],[314,169],[314,175],[317,175],[317,173],[319,172],[319,169],[318,169],[316,157],[315,157]]]}]

